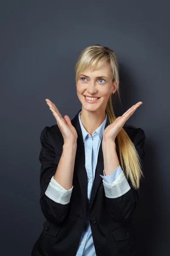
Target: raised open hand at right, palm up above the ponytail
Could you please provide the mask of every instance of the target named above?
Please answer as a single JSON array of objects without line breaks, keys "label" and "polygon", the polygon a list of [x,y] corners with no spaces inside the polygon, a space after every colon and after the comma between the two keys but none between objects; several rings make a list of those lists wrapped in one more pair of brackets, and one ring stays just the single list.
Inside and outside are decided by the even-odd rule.
[{"label": "raised open hand at right, palm up above the ponytail", "polygon": [[127,121],[129,117],[136,111],[136,109],[142,105],[142,102],[138,102],[129,108],[122,116],[116,118],[116,120],[108,125],[103,132],[103,141],[112,140],[115,142],[116,136]]}]

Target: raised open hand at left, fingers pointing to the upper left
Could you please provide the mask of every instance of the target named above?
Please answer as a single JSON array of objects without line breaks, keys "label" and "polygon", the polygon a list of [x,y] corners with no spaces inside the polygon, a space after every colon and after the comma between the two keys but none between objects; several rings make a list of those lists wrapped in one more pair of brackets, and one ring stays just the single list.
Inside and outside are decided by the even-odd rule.
[{"label": "raised open hand at left, fingers pointing to the upper left", "polygon": [[74,128],[74,126],[71,124],[71,120],[69,116],[65,115],[64,118],[59,113],[57,107],[54,105],[53,102],[49,99],[45,99],[47,105],[51,109],[51,112],[53,113],[53,116],[55,117],[57,121],[57,125],[59,127],[59,130],[62,133],[62,137],[64,139],[64,143],[73,143],[77,141],[77,131]]}]

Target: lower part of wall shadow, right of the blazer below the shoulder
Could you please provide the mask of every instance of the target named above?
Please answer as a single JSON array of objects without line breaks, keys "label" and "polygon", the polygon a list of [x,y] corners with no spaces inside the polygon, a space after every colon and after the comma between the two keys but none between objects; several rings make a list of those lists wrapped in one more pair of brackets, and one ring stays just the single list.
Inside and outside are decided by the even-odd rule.
[{"label": "lower part of wall shadow, right of the blazer below the shoulder", "polygon": [[[146,135],[147,136],[147,135]],[[158,248],[161,240],[161,225],[159,211],[163,209],[159,188],[160,181],[156,174],[158,166],[156,152],[153,143],[145,141],[145,159],[143,160],[143,173],[140,186],[140,198],[134,220],[134,226],[137,237],[139,256],[151,256]],[[157,167],[158,168],[158,167]],[[155,252],[156,253],[156,252]],[[156,255],[156,254],[154,254]]]}]

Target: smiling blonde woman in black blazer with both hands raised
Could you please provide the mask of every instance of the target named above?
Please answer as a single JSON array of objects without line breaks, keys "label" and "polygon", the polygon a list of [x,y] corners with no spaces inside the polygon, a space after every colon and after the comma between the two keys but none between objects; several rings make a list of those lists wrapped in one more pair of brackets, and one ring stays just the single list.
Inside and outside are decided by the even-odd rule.
[{"label": "smiling blonde woman in black blazer with both hands raised", "polygon": [[49,99],[57,124],[40,136],[40,206],[46,218],[32,256],[134,256],[133,215],[145,134],[125,122],[138,102],[116,118],[119,68],[112,49],[93,45],[76,64],[82,108],[71,120]]}]

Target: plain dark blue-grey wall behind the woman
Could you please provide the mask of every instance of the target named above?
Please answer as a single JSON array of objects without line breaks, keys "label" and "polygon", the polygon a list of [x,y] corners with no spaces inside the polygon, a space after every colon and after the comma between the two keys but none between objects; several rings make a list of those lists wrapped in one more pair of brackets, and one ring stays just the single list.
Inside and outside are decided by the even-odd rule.
[{"label": "plain dark blue-grey wall behind the woman", "polygon": [[127,124],[146,134],[136,212],[141,256],[170,255],[170,15],[168,1],[0,1],[1,239],[3,256],[30,256],[39,206],[40,132],[56,123],[45,99],[72,119],[81,108],[74,66],[92,44],[115,50]]}]

